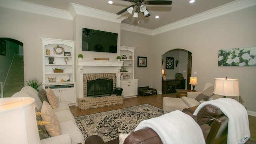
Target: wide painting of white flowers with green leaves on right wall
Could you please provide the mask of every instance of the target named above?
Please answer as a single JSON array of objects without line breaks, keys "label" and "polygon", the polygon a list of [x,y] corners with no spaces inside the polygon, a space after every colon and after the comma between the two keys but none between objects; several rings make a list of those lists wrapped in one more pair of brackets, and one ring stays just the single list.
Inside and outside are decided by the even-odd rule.
[{"label": "wide painting of white flowers with green leaves on right wall", "polygon": [[256,47],[219,50],[218,66],[256,66]]}]

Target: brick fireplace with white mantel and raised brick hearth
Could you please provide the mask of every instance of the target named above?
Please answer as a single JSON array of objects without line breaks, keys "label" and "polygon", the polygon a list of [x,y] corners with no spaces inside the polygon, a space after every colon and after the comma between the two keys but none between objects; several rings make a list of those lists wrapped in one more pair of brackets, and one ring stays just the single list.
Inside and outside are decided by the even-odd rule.
[{"label": "brick fireplace with white mantel and raised brick hearth", "polygon": [[[120,69],[122,61],[108,60],[77,60],[77,102],[78,107],[82,110],[92,108],[119,105],[123,103],[123,96],[104,96],[89,98],[87,97],[87,80],[97,78],[112,78],[113,85],[120,87]],[[116,76],[116,80],[115,80]]]}]

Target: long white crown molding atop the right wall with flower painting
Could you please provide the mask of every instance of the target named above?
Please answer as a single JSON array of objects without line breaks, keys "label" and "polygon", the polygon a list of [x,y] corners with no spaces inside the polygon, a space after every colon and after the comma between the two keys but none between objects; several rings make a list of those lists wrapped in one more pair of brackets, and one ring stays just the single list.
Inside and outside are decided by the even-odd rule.
[{"label": "long white crown molding atop the right wall with flower painting", "polygon": [[202,12],[200,14],[196,14],[194,16],[190,16],[188,18],[179,20],[177,22],[173,22],[171,24],[167,24],[165,26],[156,28],[152,30],[153,35],[160,34],[162,32],[167,32],[170,30],[174,30],[176,28],[181,28],[183,26],[188,26],[190,24],[195,24],[197,22],[202,22],[204,20],[208,20],[211,18],[215,18],[218,16],[222,16],[224,14],[228,14],[231,12],[235,12],[238,10],[242,10],[244,8],[248,8],[250,6],[256,5],[256,0],[236,0],[234,2],[230,2],[228,4],[224,4],[217,8],[213,8],[211,10]]}]

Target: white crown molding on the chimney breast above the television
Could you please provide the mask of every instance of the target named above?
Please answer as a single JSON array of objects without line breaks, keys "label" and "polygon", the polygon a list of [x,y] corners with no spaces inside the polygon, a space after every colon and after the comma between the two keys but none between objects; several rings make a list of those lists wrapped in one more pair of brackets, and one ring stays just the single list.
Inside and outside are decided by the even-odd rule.
[{"label": "white crown molding on the chimney breast above the television", "polygon": [[97,10],[94,8],[90,8],[87,6],[82,6],[79,4],[70,3],[68,6],[68,11],[70,12],[72,18],[76,16],[76,14],[82,15],[82,16],[89,16],[92,18],[98,18],[101,20],[107,20],[111,22],[117,22],[121,23],[122,20],[126,19],[126,16],[120,16],[117,14],[112,14],[110,12],[105,12],[102,10]]}]

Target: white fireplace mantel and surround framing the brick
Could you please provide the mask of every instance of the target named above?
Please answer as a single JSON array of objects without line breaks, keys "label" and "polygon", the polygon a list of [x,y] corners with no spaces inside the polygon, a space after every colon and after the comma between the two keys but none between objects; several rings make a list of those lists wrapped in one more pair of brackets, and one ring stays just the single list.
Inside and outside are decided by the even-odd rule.
[{"label": "white fireplace mantel and surround framing the brick", "polygon": [[77,60],[76,66],[78,98],[84,97],[84,74],[116,73],[116,86],[120,87],[120,70],[123,61]]}]

